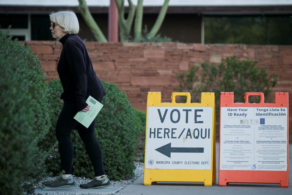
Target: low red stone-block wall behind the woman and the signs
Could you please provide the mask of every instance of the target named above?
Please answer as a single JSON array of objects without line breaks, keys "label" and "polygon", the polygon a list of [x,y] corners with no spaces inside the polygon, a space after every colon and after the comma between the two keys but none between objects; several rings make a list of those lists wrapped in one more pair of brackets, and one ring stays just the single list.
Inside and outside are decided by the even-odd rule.
[{"label": "low red stone-block wall behind the woman and the signs", "polygon": [[[58,78],[56,65],[62,44],[54,41],[28,44],[32,53],[38,54],[48,79]],[[144,112],[148,91],[160,91],[163,102],[171,101],[173,88],[178,85],[175,73],[204,61],[220,63],[231,55],[256,60],[257,66],[277,73],[279,82],[273,91],[289,92],[292,103],[292,45],[86,42],[86,47],[97,76],[118,85],[128,95],[131,105]]]}]

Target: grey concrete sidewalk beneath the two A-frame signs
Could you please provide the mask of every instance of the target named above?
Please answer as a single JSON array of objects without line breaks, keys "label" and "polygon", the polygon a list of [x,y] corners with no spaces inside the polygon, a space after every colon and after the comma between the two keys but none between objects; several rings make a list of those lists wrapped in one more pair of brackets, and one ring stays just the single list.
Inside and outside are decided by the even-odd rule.
[{"label": "grey concrete sidewalk beneath the two A-frame signs", "polygon": [[280,188],[280,184],[227,184],[226,187],[218,186],[219,171],[219,143],[216,143],[216,184],[204,187],[204,183],[187,182],[158,182],[151,186],[143,185],[143,175],[134,183],[117,192],[117,195],[177,195],[177,194],[292,194],[292,144],[289,144],[289,187]]}]

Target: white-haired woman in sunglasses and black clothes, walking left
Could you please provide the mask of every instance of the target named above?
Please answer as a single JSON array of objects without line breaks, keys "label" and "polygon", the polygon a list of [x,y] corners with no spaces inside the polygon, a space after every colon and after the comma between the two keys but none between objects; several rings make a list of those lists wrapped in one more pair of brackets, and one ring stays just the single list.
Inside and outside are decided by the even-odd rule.
[{"label": "white-haired woman in sunglasses and black clothes, walking left", "polygon": [[71,175],[73,145],[70,135],[73,129],[77,129],[85,144],[95,173],[95,178],[87,184],[81,184],[80,188],[108,187],[110,182],[104,172],[102,151],[95,138],[95,120],[87,129],[73,119],[78,111],[87,112],[90,110],[86,103],[89,95],[101,102],[105,90],[93,71],[83,41],[77,35],[79,23],[75,13],[73,11],[59,11],[51,13],[50,19],[52,36],[63,45],[57,71],[64,90],[60,97],[64,101],[64,105],[56,124],[56,136],[59,142],[61,168],[65,170],[65,174],[48,182],[46,186],[51,188],[74,186],[75,182]]}]

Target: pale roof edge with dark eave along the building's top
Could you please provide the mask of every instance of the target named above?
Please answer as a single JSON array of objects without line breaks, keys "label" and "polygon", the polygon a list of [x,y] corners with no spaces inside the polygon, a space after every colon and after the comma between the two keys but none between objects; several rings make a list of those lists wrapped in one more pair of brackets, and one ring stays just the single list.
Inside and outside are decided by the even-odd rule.
[{"label": "pale roof edge with dark eave along the building's top", "polygon": [[[138,0],[132,0],[136,5]],[[86,0],[91,13],[108,13],[110,0]],[[276,2],[276,3],[275,3]],[[127,6],[125,0],[125,6]],[[144,13],[159,13],[164,0],[144,0]],[[0,13],[48,14],[72,9],[78,13],[78,0],[0,0]],[[125,8],[127,12],[128,7]],[[198,15],[292,14],[292,0],[170,0],[167,13]]]}]

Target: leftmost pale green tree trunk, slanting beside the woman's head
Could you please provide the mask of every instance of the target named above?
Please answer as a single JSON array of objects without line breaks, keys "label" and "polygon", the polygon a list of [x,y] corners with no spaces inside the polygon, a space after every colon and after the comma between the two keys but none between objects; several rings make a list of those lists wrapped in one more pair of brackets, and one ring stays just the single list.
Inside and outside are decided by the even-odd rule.
[{"label": "leftmost pale green tree trunk, slanting beside the woman's head", "polygon": [[86,24],[88,25],[90,31],[93,33],[94,38],[99,42],[107,42],[107,39],[105,38],[102,31],[100,30],[95,20],[93,19],[85,0],[78,1],[79,1],[78,10],[81,13]]}]

